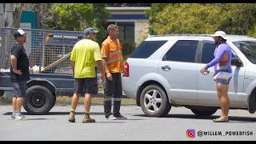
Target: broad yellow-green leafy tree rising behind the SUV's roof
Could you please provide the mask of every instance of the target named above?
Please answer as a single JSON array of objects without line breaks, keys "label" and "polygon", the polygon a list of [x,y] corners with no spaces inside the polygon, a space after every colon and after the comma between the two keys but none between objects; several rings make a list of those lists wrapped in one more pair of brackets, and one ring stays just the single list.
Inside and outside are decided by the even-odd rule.
[{"label": "broad yellow-green leafy tree rising behind the SUV's roof", "polygon": [[[151,34],[227,34],[256,32],[255,4],[152,4],[146,11]],[[254,32],[252,32],[254,31]]]}]

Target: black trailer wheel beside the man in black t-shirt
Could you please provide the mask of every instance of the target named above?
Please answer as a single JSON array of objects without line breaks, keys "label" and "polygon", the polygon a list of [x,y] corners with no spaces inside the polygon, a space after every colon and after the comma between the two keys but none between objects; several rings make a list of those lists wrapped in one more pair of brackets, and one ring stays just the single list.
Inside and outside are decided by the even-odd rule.
[{"label": "black trailer wheel beside the man in black t-shirt", "polygon": [[54,106],[54,95],[44,86],[31,86],[26,90],[24,109],[30,114],[47,114]]}]

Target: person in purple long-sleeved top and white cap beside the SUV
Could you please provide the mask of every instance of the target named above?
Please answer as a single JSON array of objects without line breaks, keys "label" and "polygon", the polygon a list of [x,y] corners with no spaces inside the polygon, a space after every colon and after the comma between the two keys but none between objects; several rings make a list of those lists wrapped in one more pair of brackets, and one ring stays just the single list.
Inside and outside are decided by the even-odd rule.
[{"label": "person in purple long-sleeved top and white cap beside the SUV", "polygon": [[[230,46],[226,44],[226,33],[223,31],[216,31],[213,35],[216,49],[214,51],[214,59],[200,70],[203,74],[208,68],[214,66],[214,75],[219,72],[232,73],[231,69],[231,50]],[[213,75],[213,77],[214,77]],[[222,115],[220,118],[214,119],[214,122],[229,122],[228,113],[230,109],[230,98],[228,97],[230,79],[216,79],[216,87],[218,99],[220,101]]]}]

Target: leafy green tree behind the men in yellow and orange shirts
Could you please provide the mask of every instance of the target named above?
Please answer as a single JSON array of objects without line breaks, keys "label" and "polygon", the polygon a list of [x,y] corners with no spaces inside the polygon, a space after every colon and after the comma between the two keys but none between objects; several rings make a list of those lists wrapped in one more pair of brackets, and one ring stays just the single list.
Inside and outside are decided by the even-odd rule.
[{"label": "leafy green tree behind the men in yellow and orange shirts", "polygon": [[100,31],[98,41],[106,37],[103,23],[110,16],[101,3],[65,3],[52,6],[50,13],[58,30],[82,31],[86,27],[93,27]]}]

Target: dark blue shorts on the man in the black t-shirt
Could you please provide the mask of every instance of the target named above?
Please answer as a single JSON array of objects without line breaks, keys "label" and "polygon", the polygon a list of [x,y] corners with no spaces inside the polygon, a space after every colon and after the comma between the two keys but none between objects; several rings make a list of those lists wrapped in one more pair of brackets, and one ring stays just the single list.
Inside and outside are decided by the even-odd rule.
[{"label": "dark blue shorts on the man in the black t-shirt", "polygon": [[12,82],[14,88],[14,97],[25,98],[26,97],[26,81]]}]

